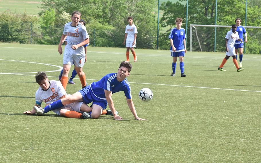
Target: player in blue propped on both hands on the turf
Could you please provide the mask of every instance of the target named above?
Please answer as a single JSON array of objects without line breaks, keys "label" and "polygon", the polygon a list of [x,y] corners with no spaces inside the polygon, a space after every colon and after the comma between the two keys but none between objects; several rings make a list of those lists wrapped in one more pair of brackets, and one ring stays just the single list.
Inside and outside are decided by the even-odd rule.
[{"label": "player in blue propped on both hands on the turf", "polygon": [[42,115],[43,113],[46,113],[50,110],[61,108],[66,104],[83,101],[85,104],[92,102],[92,111],[90,113],[83,114],[87,116],[85,119],[99,118],[102,114],[102,111],[107,107],[108,104],[112,114],[114,115],[114,119],[123,120],[122,117],[117,114],[112,100],[113,93],[123,91],[126,96],[128,107],[130,108],[135,119],[146,121],[146,119],[141,119],[138,117],[131,98],[131,86],[126,79],[126,77],[130,75],[131,68],[132,65],[129,62],[123,61],[120,63],[120,67],[117,73],[107,74],[99,81],[93,82],[72,96],[57,100],[44,108],[35,108],[35,111],[38,115]]}]

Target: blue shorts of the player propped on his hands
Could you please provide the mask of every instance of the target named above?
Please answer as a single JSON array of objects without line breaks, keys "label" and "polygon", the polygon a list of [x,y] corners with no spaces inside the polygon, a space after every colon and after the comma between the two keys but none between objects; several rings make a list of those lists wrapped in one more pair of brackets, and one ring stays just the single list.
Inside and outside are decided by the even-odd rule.
[{"label": "blue shorts of the player propped on his hands", "polygon": [[96,104],[101,106],[103,109],[107,108],[107,101],[96,97],[92,92],[90,85],[83,88],[82,90],[79,90],[78,92],[81,93],[81,96],[83,97],[83,102],[85,104],[89,104],[92,102],[92,105]]}]

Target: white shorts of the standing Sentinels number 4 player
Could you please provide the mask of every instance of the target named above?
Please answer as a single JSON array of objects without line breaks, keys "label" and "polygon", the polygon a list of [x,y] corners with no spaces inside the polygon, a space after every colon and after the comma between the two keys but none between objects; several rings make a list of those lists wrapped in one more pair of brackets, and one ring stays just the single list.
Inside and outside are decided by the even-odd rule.
[{"label": "white shorts of the standing Sentinels number 4 player", "polygon": [[65,45],[63,54],[63,65],[74,65],[76,67],[83,67],[85,61],[85,52],[83,46],[76,50],[71,49],[70,45]]}]

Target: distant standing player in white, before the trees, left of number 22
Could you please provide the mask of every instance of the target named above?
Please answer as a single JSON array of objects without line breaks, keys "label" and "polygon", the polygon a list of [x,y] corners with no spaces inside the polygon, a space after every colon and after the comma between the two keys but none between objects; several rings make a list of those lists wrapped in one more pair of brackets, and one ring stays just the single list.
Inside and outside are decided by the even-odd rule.
[{"label": "distant standing player in white, before the trees, left of number 22", "polygon": [[126,44],[126,61],[129,62],[130,58],[129,58],[129,54],[130,54],[130,49],[131,49],[131,53],[133,54],[134,57],[134,62],[137,62],[137,56],[135,53],[134,48],[136,47],[136,38],[137,38],[137,27],[132,23],[133,22],[133,18],[132,17],[128,17],[128,25],[125,28],[125,37],[124,37],[124,42],[123,44]]}]

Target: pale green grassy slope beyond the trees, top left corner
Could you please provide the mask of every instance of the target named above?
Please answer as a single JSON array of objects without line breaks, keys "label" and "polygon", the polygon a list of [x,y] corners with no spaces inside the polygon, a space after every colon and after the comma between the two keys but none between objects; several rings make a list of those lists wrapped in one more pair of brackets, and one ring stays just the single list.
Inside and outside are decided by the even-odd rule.
[{"label": "pale green grassy slope beyond the trees, top left corner", "polygon": [[40,0],[0,0],[0,12],[17,12],[17,13],[27,13],[28,15],[37,16],[41,11]]}]

